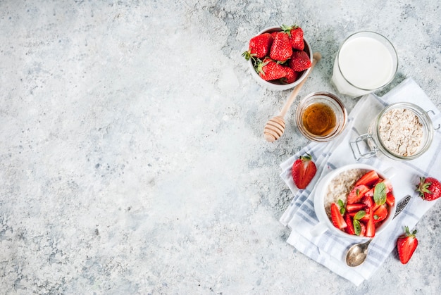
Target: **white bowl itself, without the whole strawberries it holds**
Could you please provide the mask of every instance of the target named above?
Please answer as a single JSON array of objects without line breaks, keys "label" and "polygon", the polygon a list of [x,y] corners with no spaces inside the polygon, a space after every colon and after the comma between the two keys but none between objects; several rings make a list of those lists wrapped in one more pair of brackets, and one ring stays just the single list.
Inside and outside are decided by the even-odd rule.
[{"label": "white bowl itself, without the whole strawberries it holds", "polygon": [[[272,32],[278,32],[281,31],[282,29],[280,27],[267,27],[266,29],[261,30],[259,34],[263,34],[263,33],[272,33]],[[304,51],[306,52],[306,54],[309,55],[309,58],[311,59],[311,63],[312,63],[312,50],[311,50],[311,46],[309,46],[309,43],[306,41],[306,39],[303,38],[303,41],[305,43],[305,48]],[[287,90],[287,89],[291,89],[293,87],[296,87],[298,84],[300,84],[300,82],[302,82],[302,80],[304,80],[306,78],[306,75],[308,75],[309,71],[311,70],[311,68],[308,68],[306,70],[303,71],[302,75],[300,75],[300,77],[297,78],[297,80],[295,80],[294,82],[290,83],[290,84],[278,84],[276,82],[269,82],[266,80],[263,80],[258,73],[256,73],[256,70],[254,70],[254,65],[253,65],[253,61],[251,61],[252,58],[249,59],[248,61],[248,65],[249,65],[249,70],[251,72],[251,76],[254,77],[254,79],[256,79],[257,82],[259,82],[259,84],[267,87],[268,89],[271,90]]]}]

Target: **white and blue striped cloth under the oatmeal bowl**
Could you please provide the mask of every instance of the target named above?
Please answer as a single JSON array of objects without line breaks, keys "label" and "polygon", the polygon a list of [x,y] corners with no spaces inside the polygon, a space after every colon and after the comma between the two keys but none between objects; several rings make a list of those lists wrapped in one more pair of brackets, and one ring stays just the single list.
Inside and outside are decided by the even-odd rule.
[{"label": "white and blue striped cloth under the oatmeal bowl", "polygon": [[[294,194],[290,206],[280,218],[280,222],[292,230],[287,242],[298,251],[325,265],[337,275],[357,286],[371,277],[395,249],[397,237],[404,232],[404,226],[413,230],[418,220],[437,202],[423,201],[415,192],[415,186],[420,176],[431,176],[441,180],[441,155],[439,152],[441,150],[441,129],[435,130],[430,149],[423,156],[412,161],[394,161],[378,153],[373,158],[361,159],[357,162],[352,155],[349,141],[354,140],[359,134],[366,133],[373,118],[385,106],[395,102],[411,102],[421,106],[433,120],[434,129],[439,127],[441,123],[440,111],[418,87],[418,84],[411,78],[407,78],[383,97],[375,96],[375,94],[361,97],[349,114],[347,128],[339,138],[328,143],[313,142],[280,164],[282,168],[280,177]],[[313,156],[313,161],[317,165],[317,173],[306,189],[299,190],[292,181],[291,167],[292,163],[305,153]],[[391,181],[396,201],[400,201],[407,194],[412,196],[409,204],[392,221],[390,227],[375,236],[369,246],[367,260],[355,268],[350,268],[345,262],[346,251],[349,246],[355,244],[354,241],[335,237],[330,234],[330,231],[326,231],[318,237],[312,237],[310,234],[311,228],[318,223],[313,206],[315,184],[331,170],[351,163],[366,163],[383,172],[387,168],[393,168],[395,175]]]}]

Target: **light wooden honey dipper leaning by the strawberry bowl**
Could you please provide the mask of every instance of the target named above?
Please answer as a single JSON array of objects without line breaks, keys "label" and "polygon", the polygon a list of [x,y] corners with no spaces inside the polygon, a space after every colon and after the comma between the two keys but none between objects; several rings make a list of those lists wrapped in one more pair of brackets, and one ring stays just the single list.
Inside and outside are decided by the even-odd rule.
[{"label": "light wooden honey dipper leaning by the strawberry bowl", "polygon": [[268,122],[266,123],[265,128],[263,128],[263,137],[265,137],[267,142],[275,142],[282,136],[283,132],[285,132],[285,114],[290,109],[292,103],[294,102],[294,99],[296,99],[297,94],[299,94],[299,91],[308,78],[309,74],[311,74],[314,65],[316,65],[316,63],[320,60],[321,54],[319,52],[314,52],[314,54],[312,55],[311,70],[309,70],[309,73],[306,75],[306,77],[304,77],[304,80],[302,80],[302,82],[300,82],[291,92],[290,98],[285,103],[285,106],[283,106],[282,111],[280,111],[279,115],[275,116],[271,120],[268,120]]}]

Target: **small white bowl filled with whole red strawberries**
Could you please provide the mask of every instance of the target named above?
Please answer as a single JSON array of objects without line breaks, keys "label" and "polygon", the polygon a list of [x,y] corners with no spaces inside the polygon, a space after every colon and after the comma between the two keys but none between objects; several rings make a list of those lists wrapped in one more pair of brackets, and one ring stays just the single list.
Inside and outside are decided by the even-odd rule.
[{"label": "small white bowl filled with whole red strawberries", "polygon": [[306,78],[312,54],[301,27],[282,25],[261,30],[242,56],[257,82],[272,90],[286,90]]}]

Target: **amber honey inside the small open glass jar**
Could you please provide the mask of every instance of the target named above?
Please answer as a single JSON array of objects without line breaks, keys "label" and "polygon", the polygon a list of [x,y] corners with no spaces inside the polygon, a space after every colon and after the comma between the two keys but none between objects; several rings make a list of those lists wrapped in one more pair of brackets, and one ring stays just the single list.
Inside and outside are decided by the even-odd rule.
[{"label": "amber honey inside the small open glass jar", "polygon": [[316,136],[326,136],[335,130],[337,116],[325,103],[312,103],[302,114],[304,129]]}]

